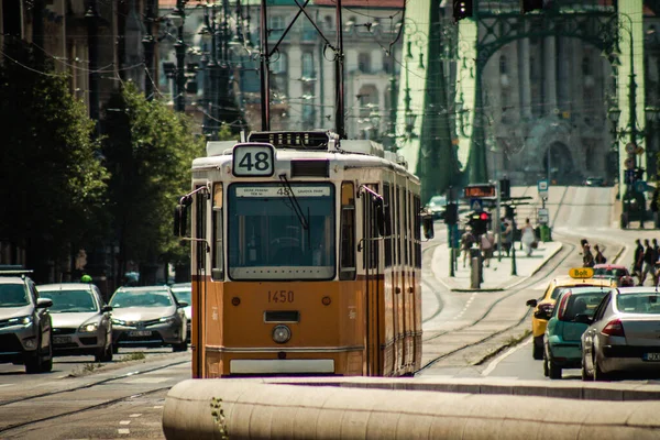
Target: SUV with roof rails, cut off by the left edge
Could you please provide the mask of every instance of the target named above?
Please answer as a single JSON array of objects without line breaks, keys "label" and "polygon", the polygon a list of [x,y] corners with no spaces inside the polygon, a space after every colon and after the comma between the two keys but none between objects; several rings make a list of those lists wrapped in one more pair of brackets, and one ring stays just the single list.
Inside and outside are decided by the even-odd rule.
[{"label": "SUV with roof rails, cut off by the left edge", "polygon": [[40,298],[31,271],[0,268],[0,363],[24,364],[26,373],[53,370],[48,307]]}]

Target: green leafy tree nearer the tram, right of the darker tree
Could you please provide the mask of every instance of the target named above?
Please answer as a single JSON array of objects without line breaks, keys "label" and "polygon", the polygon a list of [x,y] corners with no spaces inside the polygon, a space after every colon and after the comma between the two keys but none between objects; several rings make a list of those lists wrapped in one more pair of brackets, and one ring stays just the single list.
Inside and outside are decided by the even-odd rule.
[{"label": "green leafy tree nearer the tram, right of the darker tree", "polygon": [[106,109],[103,155],[112,174],[119,273],[135,262],[143,280],[155,283],[157,263],[189,260],[189,246],[172,232],[173,208],[190,190],[191,163],[204,153],[204,141],[191,134],[187,117],[147,101],[132,82]]}]

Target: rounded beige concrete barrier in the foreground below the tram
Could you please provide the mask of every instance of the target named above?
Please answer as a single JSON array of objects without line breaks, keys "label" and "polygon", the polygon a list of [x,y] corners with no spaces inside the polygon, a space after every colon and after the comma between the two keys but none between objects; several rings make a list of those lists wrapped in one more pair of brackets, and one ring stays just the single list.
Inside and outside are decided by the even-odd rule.
[{"label": "rounded beige concrete barrier in the foreground below the tram", "polygon": [[167,394],[168,440],[220,439],[211,399],[237,439],[658,439],[660,402],[572,400],[189,380]]}]

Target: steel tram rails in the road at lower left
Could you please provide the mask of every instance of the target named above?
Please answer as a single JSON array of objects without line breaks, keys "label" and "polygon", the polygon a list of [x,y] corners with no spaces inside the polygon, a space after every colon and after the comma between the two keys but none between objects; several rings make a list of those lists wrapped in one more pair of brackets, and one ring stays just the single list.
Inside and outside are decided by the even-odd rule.
[{"label": "steel tram rails in the road at lower left", "polygon": [[[80,391],[85,391],[85,389],[91,389],[95,387],[108,385],[112,382],[119,382],[119,381],[136,377],[136,376],[148,374],[148,373],[167,370],[169,367],[178,366],[178,365],[186,364],[189,362],[190,362],[189,360],[170,362],[170,363],[167,363],[164,365],[157,365],[157,366],[147,367],[144,370],[117,374],[111,377],[106,377],[102,380],[88,382],[88,383],[77,385],[77,386],[70,386],[70,387],[63,388],[63,389],[54,389],[51,392],[40,393],[40,394],[20,397],[20,398],[13,398],[13,399],[9,399],[9,400],[0,402],[0,408],[11,408],[12,405],[20,407],[26,403],[31,403],[31,402],[36,403],[38,399],[47,399],[47,398],[58,396],[58,395],[66,395],[68,393],[76,393],[76,392],[80,392]],[[61,418],[61,417],[67,417],[67,416],[72,416],[72,415],[76,415],[76,414],[80,414],[80,413],[85,413],[85,411],[90,411],[90,410],[108,407],[108,406],[116,405],[121,402],[128,402],[128,400],[136,398],[136,397],[160,393],[160,392],[163,392],[163,391],[166,391],[169,388],[170,388],[170,385],[158,386],[156,388],[145,389],[145,391],[142,391],[139,393],[136,393],[135,391],[128,391],[124,395],[121,395],[118,397],[110,397],[108,399],[103,399],[103,402],[99,402],[96,404],[81,404],[79,407],[76,407],[74,409],[64,409],[63,411],[56,411],[56,414],[43,415],[43,411],[38,411],[38,413],[34,411],[32,414],[38,414],[42,417],[37,417],[34,419],[30,419],[30,420],[18,421],[18,422],[13,422],[13,424],[0,427],[0,438],[3,437],[2,436],[3,433],[11,431],[11,430],[24,428],[24,427],[28,427],[31,425],[41,424],[41,422],[53,420],[53,419]],[[70,400],[67,400],[67,402],[70,402]],[[54,408],[54,409],[56,409],[56,408]]]}]

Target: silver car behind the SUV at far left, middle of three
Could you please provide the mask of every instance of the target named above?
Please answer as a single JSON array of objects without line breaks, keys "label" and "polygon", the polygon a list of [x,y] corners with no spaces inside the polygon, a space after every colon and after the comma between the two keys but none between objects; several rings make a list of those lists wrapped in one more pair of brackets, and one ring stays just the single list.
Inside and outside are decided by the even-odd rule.
[{"label": "silver car behind the SUV at far left, middle of three", "polygon": [[55,354],[94,354],[96,362],[112,361],[110,311],[97,286],[61,283],[37,286],[53,301],[53,348]]}]

